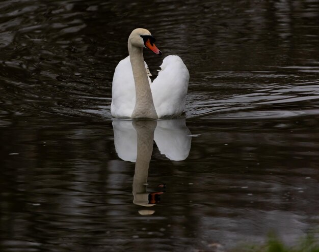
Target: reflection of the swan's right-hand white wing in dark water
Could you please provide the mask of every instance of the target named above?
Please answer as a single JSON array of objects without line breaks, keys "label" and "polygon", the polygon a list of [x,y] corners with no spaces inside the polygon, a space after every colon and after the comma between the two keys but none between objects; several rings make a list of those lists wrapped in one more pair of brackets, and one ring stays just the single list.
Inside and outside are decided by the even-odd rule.
[{"label": "reflection of the swan's right-hand white wing in dark water", "polygon": [[191,150],[192,138],[185,119],[158,120],[154,132],[155,143],[161,151],[172,161],[185,160]]}]

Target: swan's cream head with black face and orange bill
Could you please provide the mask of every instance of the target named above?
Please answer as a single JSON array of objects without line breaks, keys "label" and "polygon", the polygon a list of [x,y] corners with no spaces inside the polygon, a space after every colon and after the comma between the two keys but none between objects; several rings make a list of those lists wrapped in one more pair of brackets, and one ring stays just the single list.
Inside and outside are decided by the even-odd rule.
[{"label": "swan's cream head with black face and orange bill", "polygon": [[152,52],[162,55],[162,52],[154,44],[155,39],[147,29],[137,28],[128,37],[128,44],[136,47],[145,47]]}]

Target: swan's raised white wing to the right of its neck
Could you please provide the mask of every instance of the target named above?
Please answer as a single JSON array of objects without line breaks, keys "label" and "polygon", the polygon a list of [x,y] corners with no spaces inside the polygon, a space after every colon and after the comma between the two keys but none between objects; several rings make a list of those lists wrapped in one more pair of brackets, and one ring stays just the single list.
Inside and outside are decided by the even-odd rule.
[{"label": "swan's raised white wing to the right of its neck", "polygon": [[161,71],[151,84],[155,109],[159,118],[180,115],[184,111],[190,74],[177,55],[163,60]]}]

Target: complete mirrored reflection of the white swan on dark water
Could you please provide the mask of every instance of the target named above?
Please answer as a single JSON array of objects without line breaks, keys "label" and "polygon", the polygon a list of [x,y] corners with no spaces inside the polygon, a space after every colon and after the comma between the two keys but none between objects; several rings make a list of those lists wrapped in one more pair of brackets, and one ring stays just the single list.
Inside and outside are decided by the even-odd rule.
[{"label": "complete mirrored reflection of the white swan on dark water", "polygon": [[[114,120],[114,145],[120,159],[134,162],[133,203],[154,206],[159,203],[163,191],[148,193],[147,177],[153,151],[153,140],[161,154],[169,160],[185,160],[191,149],[191,132],[185,119],[174,120]],[[162,189],[164,184],[159,185]],[[140,210],[140,214],[152,214],[153,210]]]}]

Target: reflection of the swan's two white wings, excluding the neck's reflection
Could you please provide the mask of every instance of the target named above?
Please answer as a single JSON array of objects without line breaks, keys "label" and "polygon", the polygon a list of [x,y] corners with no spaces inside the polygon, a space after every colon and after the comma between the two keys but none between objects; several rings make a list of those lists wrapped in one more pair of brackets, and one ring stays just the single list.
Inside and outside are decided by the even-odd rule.
[{"label": "reflection of the swan's two white wings, excluding the neck's reflection", "polygon": [[[129,120],[114,120],[114,145],[120,159],[136,162],[137,133]],[[192,138],[185,119],[158,120],[154,132],[155,143],[168,159],[181,161],[188,157]]]}]

